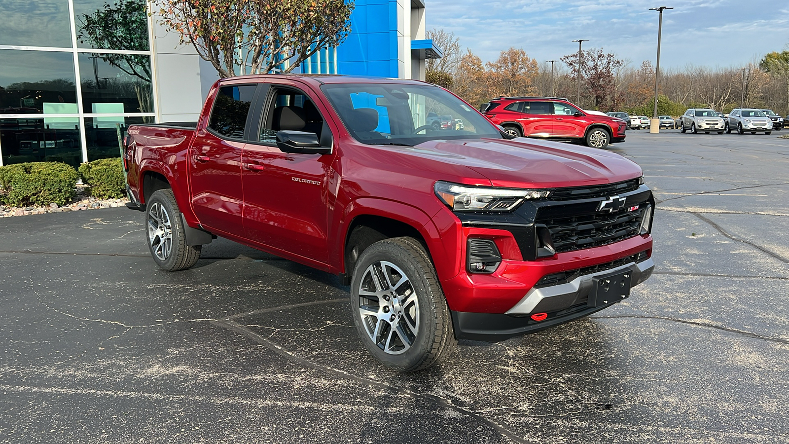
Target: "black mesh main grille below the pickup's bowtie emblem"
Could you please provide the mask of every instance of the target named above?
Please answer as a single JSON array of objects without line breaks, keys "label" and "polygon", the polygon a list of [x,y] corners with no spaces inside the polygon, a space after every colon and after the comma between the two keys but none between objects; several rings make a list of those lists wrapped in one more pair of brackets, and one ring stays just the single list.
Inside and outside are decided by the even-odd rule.
[{"label": "black mesh main grille below the pickup's bowtie emblem", "polygon": [[[640,205],[639,205],[640,206]],[[551,233],[557,253],[608,245],[638,235],[641,211],[626,206],[613,213],[543,218],[537,213],[537,224],[544,224]]]}]

